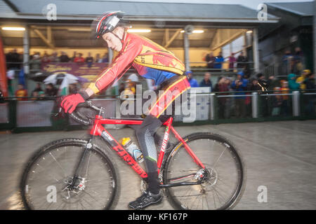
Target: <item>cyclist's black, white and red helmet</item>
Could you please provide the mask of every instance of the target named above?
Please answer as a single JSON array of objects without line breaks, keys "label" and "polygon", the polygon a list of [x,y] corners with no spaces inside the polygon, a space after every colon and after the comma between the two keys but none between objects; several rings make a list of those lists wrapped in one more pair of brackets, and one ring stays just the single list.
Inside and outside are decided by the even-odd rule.
[{"label": "cyclist's black, white and red helmet", "polygon": [[93,28],[95,33],[95,37],[101,38],[103,34],[107,32],[112,32],[115,28],[118,27],[122,22],[126,22],[122,20],[124,13],[121,11],[113,11],[107,12],[104,15],[100,16],[96,20],[93,21]]}]

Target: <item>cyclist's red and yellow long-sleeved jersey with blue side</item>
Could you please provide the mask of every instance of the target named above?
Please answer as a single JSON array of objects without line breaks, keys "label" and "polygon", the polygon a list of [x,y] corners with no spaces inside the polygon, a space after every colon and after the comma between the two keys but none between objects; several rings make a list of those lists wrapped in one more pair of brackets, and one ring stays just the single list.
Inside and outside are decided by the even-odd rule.
[{"label": "cyclist's red and yellow long-sleeved jersey with blue side", "polygon": [[133,66],[140,76],[154,80],[154,85],[159,85],[176,74],[182,75],[185,71],[183,62],[171,51],[143,36],[127,33],[123,48],[114,62],[88,87],[98,93],[116,78],[121,78],[124,74],[122,72],[130,66]]}]

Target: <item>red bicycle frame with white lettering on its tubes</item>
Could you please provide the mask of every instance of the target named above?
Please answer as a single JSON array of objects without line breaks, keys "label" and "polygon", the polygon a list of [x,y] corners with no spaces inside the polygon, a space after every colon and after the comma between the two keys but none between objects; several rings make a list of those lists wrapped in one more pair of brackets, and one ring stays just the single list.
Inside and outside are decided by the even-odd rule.
[{"label": "red bicycle frame with white lettering on its tubes", "polygon": [[[164,126],[166,126],[166,131],[164,132],[164,139],[163,139],[160,151],[159,151],[159,156],[158,156],[158,161],[157,161],[158,175],[162,170],[162,162],[164,159],[164,153],[166,150],[166,146],[167,146],[167,143],[169,141],[170,131],[175,135],[175,137],[179,141],[181,141],[181,143],[185,147],[187,153],[189,153],[189,155],[197,163],[197,165],[199,165],[199,167],[202,167],[203,169],[205,169],[202,162],[199,160],[199,158],[197,158],[195,153],[193,153],[192,149],[186,144],[185,140],[183,140],[183,138],[180,137],[180,134],[178,134],[178,132],[176,132],[176,130],[173,128],[172,122],[173,122],[173,118],[169,118],[163,124]],[[93,127],[91,129],[90,134],[91,134],[91,136],[102,137],[110,146],[112,146],[112,148],[114,149],[114,151],[117,152],[117,154],[119,155],[120,158],[122,158],[125,162],[127,162],[127,164],[141,178],[145,179],[145,178],[147,178],[147,173],[143,170],[143,168],[140,167],[140,165],[138,165],[138,162],[136,162],[136,160],[134,160],[133,157],[125,150],[125,148],[123,146],[121,146],[121,144],[119,144],[119,142],[116,139],[114,139],[114,137],[112,137],[112,135],[109,132],[107,132],[107,130],[105,130],[105,127],[102,126],[102,125],[118,125],[118,124],[119,125],[141,125],[142,123],[143,123],[143,120],[138,120],[138,119],[136,119],[136,120],[128,120],[128,119],[124,120],[121,118],[108,119],[108,118],[103,118],[102,116],[97,115],[96,119],[93,123]]]}]

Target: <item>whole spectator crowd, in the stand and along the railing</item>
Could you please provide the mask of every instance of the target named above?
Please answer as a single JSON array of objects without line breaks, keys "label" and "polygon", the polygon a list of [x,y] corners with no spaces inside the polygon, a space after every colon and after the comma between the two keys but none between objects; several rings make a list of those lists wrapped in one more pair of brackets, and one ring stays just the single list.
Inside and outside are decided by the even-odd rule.
[{"label": "whole spectator crowd, in the stand and along the railing", "polygon": [[[9,69],[19,69],[18,64],[22,62],[22,55],[17,50],[12,50],[6,54],[6,61],[8,62]],[[222,56],[222,52],[219,52],[217,56],[213,56],[213,53],[209,53],[205,57],[207,63],[207,69],[210,72],[204,73],[204,78],[201,81],[197,81],[194,78],[192,71],[187,71],[187,78],[191,87],[210,87],[211,92],[217,92],[217,95],[227,95],[234,92],[234,97],[218,97],[218,116],[219,118],[230,118],[234,114],[235,118],[251,117],[251,92],[258,92],[258,94],[266,94],[266,90],[272,95],[268,97],[262,97],[263,101],[262,109],[263,116],[289,116],[291,111],[291,96],[288,95],[292,91],[300,90],[301,92],[308,92],[309,90],[315,90],[315,74],[310,70],[303,70],[303,52],[301,48],[295,48],[295,52],[287,50],[282,57],[282,72],[288,74],[286,78],[276,78],[270,76],[267,79],[263,73],[258,73],[255,76],[250,76],[248,59],[244,56],[243,52],[240,52],[238,57],[232,53],[226,58],[229,63],[229,71],[235,71],[237,73],[235,77],[218,76],[217,82],[212,83],[211,72],[222,71],[223,63],[225,59]],[[40,69],[43,62],[74,62],[74,63],[88,63],[91,66],[92,63],[108,62],[107,54],[100,57],[100,54],[96,54],[93,57],[90,52],[84,57],[81,52],[74,52],[72,57],[69,57],[66,52],[53,52],[48,55],[44,52],[41,55],[40,52],[34,52],[29,58],[31,70]],[[282,76],[284,77],[284,76]],[[130,81],[127,87],[121,83],[119,86],[119,93],[124,90],[135,92],[135,82]],[[77,90],[77,86],[70,86],[70,93]],[[27,90],[23,85],[18,85],[18,90],[15,91],[15,97],[33,97],[32,99],[39,99],[39,97],[53,97],[58,95],[58,89],[52,84],[46,85],[45,90],[41,89],[41,83],[37,83],[37,87],[28,96]],[[306,105],[305,112],[315,113],[315,95],[308,95],[303,99],[303,105]],[[22,98],[19,98],[22,100]]]}]

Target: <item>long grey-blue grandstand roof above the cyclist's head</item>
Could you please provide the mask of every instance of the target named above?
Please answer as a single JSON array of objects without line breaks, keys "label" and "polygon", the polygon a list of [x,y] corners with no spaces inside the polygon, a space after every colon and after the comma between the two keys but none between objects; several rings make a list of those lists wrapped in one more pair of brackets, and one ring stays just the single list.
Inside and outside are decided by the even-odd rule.
[{"label": "long grey-blue grandstand roof above the cyclist's head", "polygon": [[[192,20],[227,22],[244,20],[243,22],[259,22],[256,10],[240,5],[200,4],[200,3],[157,3],[131,1],[72,1],[72,0],[6,0],[18,8],[20,15],[41,15],[49,3],[55,3],[58,16],[82,16],[91,19],[95,15],[109,10],[122,10],[126,17],[135,20]],[[221,21],[223,20],[223,21]],[[277,20],[268,15],[268,20]],[[207,21],[206,21],[207,22]],[[270,21],[261,21],[270,22]]]}]

